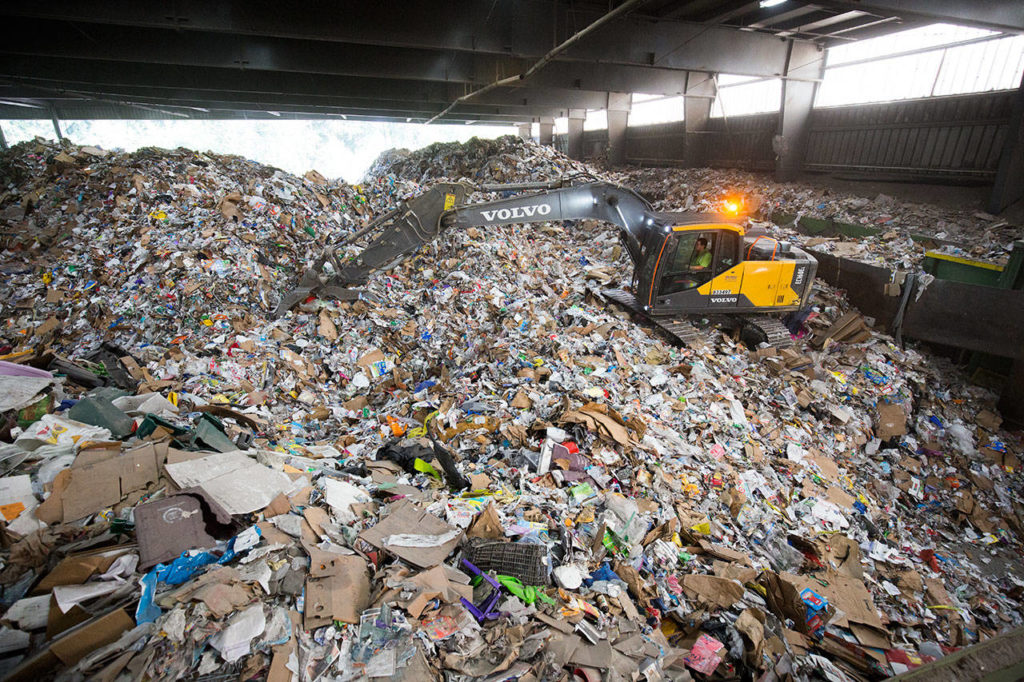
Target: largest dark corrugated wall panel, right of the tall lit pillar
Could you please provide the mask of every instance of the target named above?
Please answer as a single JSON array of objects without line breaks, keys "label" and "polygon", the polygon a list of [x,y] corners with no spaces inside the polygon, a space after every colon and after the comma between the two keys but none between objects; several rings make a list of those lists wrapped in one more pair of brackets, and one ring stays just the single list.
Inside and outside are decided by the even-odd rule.
[{"label": "largest dark corrugated wall panel, right of the tall lit pillar", "polygon": [[991,178],[1013,91],[817,109],[804,167]]}]

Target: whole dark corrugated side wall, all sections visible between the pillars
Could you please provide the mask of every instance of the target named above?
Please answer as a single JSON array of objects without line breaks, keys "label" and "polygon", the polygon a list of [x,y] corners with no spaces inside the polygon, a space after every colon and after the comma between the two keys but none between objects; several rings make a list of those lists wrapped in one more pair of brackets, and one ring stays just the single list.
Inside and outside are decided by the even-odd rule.
[{"label": "whole dark corrugated side wall, all sections visible between the pillars", "polygon": [[[811,114],[805,168],[911,177],[991,179],[995,174],[1014,91],[816,109]],[[778,114],[713,118],[693,136],[697,158],[713,167],[772,170]],[[559,136],[564,145],[564,136]],[[627,129],[629,163],[682,162],[682,121]],[[588,157],[603,153],[607,132],[584,134]]]}]

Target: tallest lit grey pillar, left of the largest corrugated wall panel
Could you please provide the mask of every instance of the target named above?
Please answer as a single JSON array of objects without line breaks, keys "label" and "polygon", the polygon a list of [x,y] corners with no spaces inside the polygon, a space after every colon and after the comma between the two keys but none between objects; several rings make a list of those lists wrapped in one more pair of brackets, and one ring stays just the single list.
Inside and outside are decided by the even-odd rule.
[{"label": "tallest lit grey pillar, left of the largest corrugated wall panel", "polygon": [[807,124],[824,71],[823,47],[815,43],[790,41],[782,79],[778,134],[772,139],[776,180],[792,180],[803,167]]}]

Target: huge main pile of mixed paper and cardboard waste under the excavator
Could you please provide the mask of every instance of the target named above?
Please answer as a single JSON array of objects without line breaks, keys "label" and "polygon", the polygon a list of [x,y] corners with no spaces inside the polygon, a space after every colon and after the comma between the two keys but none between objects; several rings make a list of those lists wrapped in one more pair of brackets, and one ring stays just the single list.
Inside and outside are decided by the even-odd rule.
[{"label": "huge main pile of mixed paper and cardboard waste under the excavator", "polygon": [[567,172],[5,153],[6,679],[879,680],[1024,624],[1020,433],[824,284],[792,348],[675,347],[581,221],[271,314],[436,180]]}]

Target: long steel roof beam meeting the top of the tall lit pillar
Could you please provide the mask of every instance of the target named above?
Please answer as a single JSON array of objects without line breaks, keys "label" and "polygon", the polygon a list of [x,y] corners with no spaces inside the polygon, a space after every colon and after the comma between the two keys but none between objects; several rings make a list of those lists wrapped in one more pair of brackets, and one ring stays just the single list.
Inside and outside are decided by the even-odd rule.
[{"label": "long steel roof beam meeting the top of the tall lit pillar", "polygon": [[[8,17],[4,33],[2,49],[23,55],[475,84],[523,73],[531,58],[547,51],[469,53],[446,47],[382,47],[199,31],[125,31],[100,24],[24,17]],[[548,69],[558,69],[563,61],[583,61],[770,77],[782,73],[785,53],[784,41],[761,33],[626,17],[596,30]]]}]

